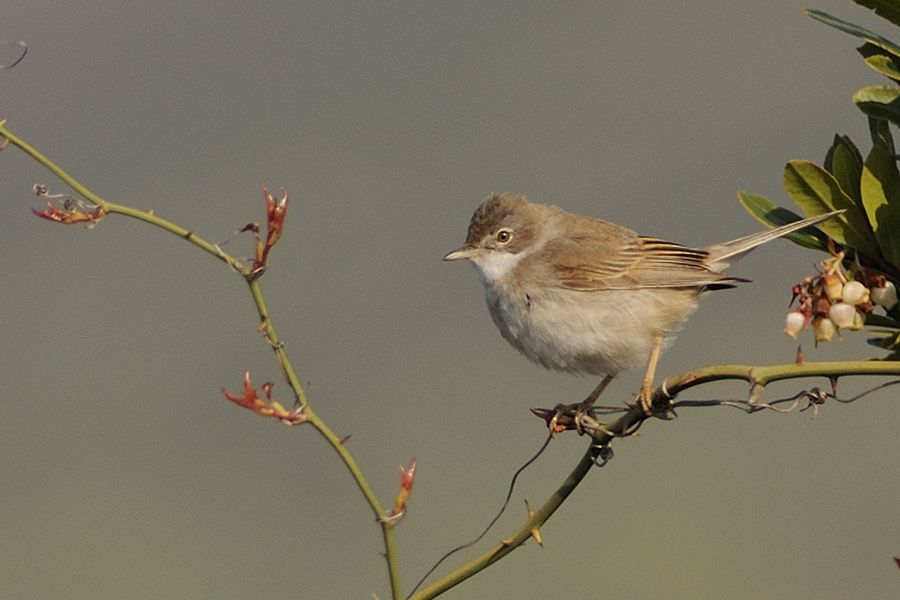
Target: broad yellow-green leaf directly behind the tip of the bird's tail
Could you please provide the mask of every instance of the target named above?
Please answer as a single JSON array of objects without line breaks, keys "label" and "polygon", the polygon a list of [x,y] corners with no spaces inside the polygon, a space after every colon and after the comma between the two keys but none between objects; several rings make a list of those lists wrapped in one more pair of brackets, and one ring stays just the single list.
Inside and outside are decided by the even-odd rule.
[{"label": "broad yellow-green leaf directly behind the tip of the bird's tail", "polygon": [[861,206],[856,204],[831,173],[808,160],[792,160],[784,168],[784,187],[807,216],[845,209],[842,215],[820,223],[834,241],[877,256],[877,244]]}]

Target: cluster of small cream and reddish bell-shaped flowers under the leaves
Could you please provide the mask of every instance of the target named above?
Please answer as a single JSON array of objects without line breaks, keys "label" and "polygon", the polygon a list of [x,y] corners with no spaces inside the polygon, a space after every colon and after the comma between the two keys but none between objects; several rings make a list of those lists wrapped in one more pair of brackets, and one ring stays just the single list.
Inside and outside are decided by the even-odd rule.
[{"label": "cluster of small cream and reddish bell-shaped flowers under the leaves", "polygon": [[784,332],[796,338],[812,325],[816,343],[827,342],[841,330],[862,329],[876,306],[891,310],[897,305],[897,288],[884,275],[856,266],[845,271],[843,254],[822,261],[822,271],[793,288]]}]

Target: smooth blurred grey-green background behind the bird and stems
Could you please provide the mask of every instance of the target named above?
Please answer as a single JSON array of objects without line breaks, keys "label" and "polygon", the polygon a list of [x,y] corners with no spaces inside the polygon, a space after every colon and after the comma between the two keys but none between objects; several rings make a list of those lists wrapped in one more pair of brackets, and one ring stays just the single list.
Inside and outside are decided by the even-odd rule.
[{"label": "smooth blurred grey-green background behind the bird and stems", "polygon": [[[544,439],[527,409],[596,383],[518,356],[473,270],[441,262],[471,211],[511,190],[688,244],[753,231],[737,189],[787,203],[786,160],[821,161],[836,132],[869,147],[850,95],[878,76],[801,6],[14,1],[0,38],[30,50],[0,72],[0,116],[108,200],[208,239],[263,220],[261,185],[290,190],[264,289],[311,401],[386,504],[418,459],[397,530],[409,589]],[[813,7],[900,37],[850,2]],[[220,394],[250,369],[289,398],[242,281],[125,218],[37,219],[36,182],[68,191],[0,154],[0,596],[389,597],[379,531],[334,453]],[[790,361],[790,286],[817,260],[786,242],[748,257],[733,273],[754,283],[707,298],[661,374]],[[864,337],[803,346],[877,356]],[[802,385],[826,383],[767,397]],[[648,423],[543,550],[446,597],[894,598],[898,417],[884,391],[817,416]],[[551,444],[491,542],[585,443]]]}]

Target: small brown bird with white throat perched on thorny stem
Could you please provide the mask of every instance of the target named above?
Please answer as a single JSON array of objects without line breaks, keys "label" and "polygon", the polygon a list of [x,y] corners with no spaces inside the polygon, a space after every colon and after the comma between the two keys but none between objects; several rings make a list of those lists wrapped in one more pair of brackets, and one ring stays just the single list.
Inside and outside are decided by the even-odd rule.
[{"label": "small brown bird with white throat perched on thorny stem", "polygon": [[513,193],[475,210],[466,242],[444,260],[468,260],[501,335],[548,369],[603,375],[589,407],[620,371],[646,363],[638,403],[647,415],[664,345],[708,290],[748,281],[721,274],[753,248],[842,211],[730,242],[688,248]]}]

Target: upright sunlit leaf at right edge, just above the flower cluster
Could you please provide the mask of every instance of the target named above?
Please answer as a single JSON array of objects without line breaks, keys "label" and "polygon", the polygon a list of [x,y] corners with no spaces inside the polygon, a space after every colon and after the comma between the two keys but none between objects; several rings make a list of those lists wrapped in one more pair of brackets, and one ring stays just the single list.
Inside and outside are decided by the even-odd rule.
[{"label": "upright sunlit leaf at right edge, just above the flower cluster", "polygon": [[881,255],[900,265],[900,173],[885,144],[876,144],[866,158],[860,180],[863,206]]}]

